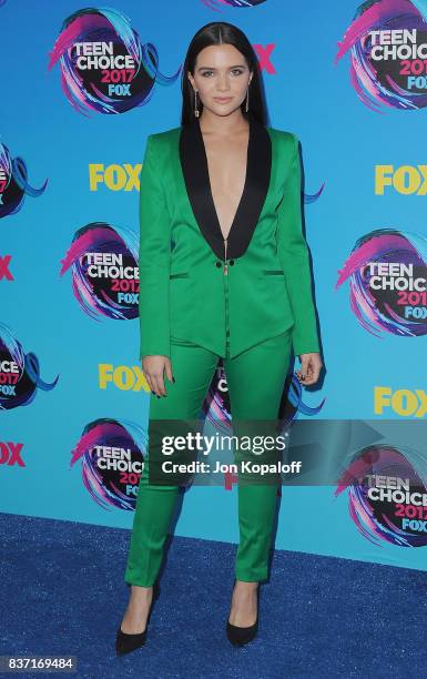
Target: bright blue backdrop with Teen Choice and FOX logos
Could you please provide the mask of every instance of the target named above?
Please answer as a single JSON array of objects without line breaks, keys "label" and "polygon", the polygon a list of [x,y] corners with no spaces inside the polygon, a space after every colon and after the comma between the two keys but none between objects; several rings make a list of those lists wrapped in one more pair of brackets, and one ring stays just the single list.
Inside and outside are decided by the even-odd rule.
[{"label": "bright blue backdrop with Teen Choice and FOX logos", "polygon": [[[132,526],[140,170],[180,124],[191,38],[221,20],[302,142],[326,372],[301,391],[291,369],[284,412],[342,463],[282,487],[276,548],[426,569],[426,0],[0,0],[1,510]],[[200,416],[230,426],[221,362]],[[235,480],[189,487],[175,534],[237,543]]]}]

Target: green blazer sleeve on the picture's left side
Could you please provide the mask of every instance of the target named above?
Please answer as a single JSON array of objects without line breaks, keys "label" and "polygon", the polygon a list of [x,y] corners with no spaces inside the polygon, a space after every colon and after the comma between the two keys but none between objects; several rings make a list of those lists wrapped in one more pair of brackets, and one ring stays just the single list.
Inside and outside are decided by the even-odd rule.
[{"label": "green blazer sleeve on the picture's left side", "polygon": [[169,276],[171,220],[155,135],[146,140],[140,179],[140,358],[171,356]]}]

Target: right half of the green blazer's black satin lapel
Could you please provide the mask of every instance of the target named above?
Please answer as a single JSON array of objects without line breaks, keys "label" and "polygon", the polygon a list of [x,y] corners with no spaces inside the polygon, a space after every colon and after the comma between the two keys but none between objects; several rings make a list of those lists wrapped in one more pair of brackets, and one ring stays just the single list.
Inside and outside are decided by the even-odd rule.
[{"label": "right half of the green blazer's black satin lapel", "polygon": [[228,234],[227,255],[241,257],[247,250],[270,189],[272,141],[264,125],[251,120],[244,192]]}]

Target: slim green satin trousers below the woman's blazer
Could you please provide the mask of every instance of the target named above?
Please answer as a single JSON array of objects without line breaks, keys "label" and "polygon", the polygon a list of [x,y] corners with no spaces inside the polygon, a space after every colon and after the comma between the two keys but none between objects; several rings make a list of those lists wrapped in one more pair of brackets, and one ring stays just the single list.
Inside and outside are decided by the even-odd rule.
[{"label": "slim green satin trousers below the woman's blazer", "polygon": [[[224,357],[232,420],[277,418],[292,346],[286,331],[246,349]],[[217,366],[218,356],[185,342],[172,342],[171,363],[175,383],[165,378],[166,397],[151,395],[150,418],[197,419]],[[150,450],[150,439],[149,446]],[[149,452],[150,457],[150,452]],[[235,577],[247,582],[267,578],[277,485],[238,484],[240,544]],[[125,582],[150,587],[163,557],[164,543],[177,497],[177,486],[149,483],[149,465],[140,478]]]}]

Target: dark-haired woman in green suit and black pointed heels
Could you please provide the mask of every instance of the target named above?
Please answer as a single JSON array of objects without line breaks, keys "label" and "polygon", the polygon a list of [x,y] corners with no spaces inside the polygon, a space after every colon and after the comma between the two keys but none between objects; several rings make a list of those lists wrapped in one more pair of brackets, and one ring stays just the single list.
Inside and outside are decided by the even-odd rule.
[{"label": "dark-haired woman in green suit and black pointed heels", "polygon": [[[150,422],[196,419],[220,357],[233,423],[273,420],[292,347],[302,384],[315,384],[322,367],[297,139],[266,126],[256,55],[230,23],[209,23],[194,36],[182,89],[182,125],[149,136],[141,172],[140,355],[152,389]],[[118,653],[145,641],[179,493],[177,485],[149,483],[149,466],[140,479]],[[226,622],[234,645],[257,631],[276,496],[274,484],[238,483],[240,545]]]}]

